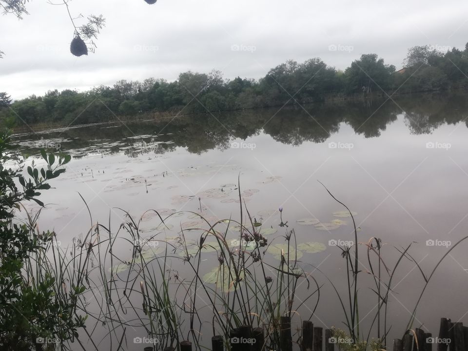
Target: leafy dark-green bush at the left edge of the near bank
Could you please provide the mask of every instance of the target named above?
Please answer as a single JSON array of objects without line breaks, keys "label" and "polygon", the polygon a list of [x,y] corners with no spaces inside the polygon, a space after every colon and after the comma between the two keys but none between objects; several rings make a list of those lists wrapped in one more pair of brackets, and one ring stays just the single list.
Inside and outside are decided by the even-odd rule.
[{"label": "leafy dark-green bush at the left edge of the near bank", "polygon": [[0,155],[0,349],[49,350],[57,340],[75,337],[83,326],[86,318],[76,314],[76,302],[84,287],[59,291],[63,282],[44,260],[55,233],[39,233],[31,218],[30,225],[14,222],[14,210],[20,210],[21,201],[42,206],[36,198],[39,191],[50,188],[48,181],[65,172],[61,167],[71,157],[43,151],[47,167],[39,169],[32,162],[29,178],[23,175],[24,160],[8,133],[0,135]]}]

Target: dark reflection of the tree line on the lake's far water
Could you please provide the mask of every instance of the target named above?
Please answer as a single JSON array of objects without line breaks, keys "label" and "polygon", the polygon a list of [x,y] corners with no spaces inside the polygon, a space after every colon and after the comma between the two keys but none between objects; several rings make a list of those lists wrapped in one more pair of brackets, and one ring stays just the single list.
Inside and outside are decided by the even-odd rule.
[{"label": "dark reflection of the tree line on the lake's far water", "polygon": [[[402,114],[411,134],[429,134],[443,124],[468,122],[464,95],[420,95],[366,101],[341,101],[312,107],[288,107],[224,112],[138,121],[112,125],[61,128],[37,134],[17,135],[26,155],[39,155],[39,149],[59,145],[75,158],[89,154],[129,157],[164,154],[176,147],[190,153],[224,150],[234,138],[246,139],[261,131],[284,144],[305,141],[322,143],[347,123],[364,137],[379,137],[387,125]],[[468,124],[467,124],[468,125]]]}]

